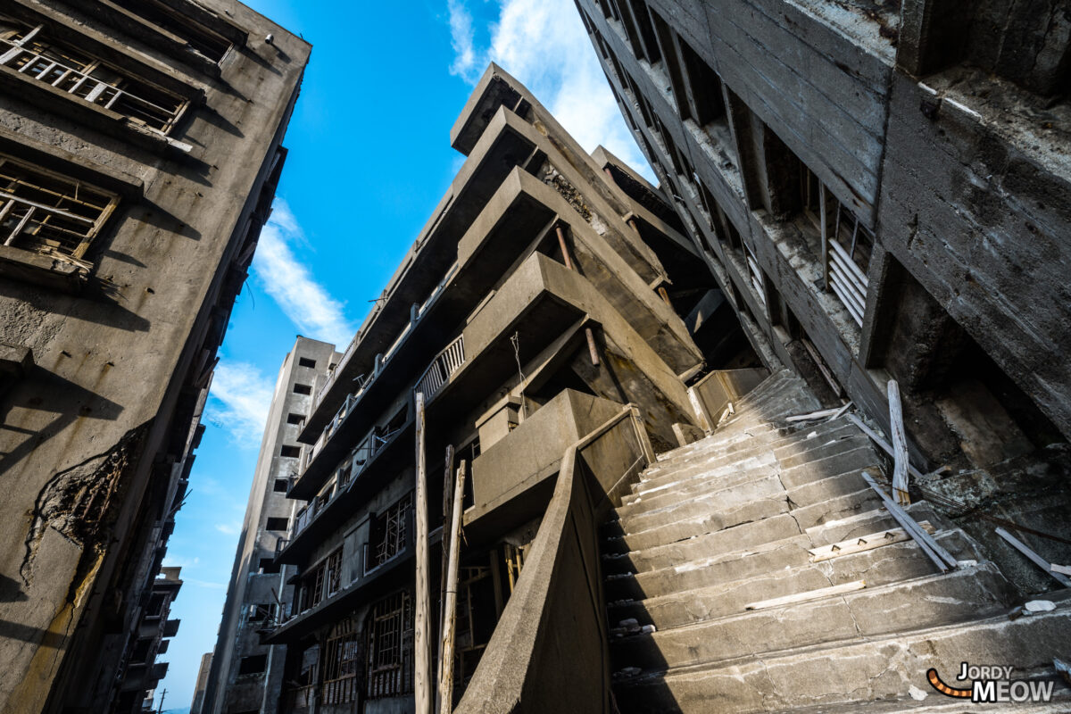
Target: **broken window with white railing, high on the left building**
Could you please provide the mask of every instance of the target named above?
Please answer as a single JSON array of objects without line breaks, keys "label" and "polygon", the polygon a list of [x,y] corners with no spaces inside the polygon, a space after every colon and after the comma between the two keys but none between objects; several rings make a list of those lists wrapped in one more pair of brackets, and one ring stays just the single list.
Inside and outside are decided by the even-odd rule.
[{"label": "broken window with white railing, high on the left building", "polygon": [[160,134],[170,132],[190,105],[129,70],[54,41],[42,25],[0,18],[0,64]]}]

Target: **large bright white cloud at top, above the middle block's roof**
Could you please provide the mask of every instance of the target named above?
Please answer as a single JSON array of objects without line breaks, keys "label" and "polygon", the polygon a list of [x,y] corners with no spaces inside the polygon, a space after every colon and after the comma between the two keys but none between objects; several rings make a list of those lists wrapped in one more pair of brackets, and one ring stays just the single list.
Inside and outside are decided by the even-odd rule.
[{"label": "large bright white cloud at top, above the middle block's roof", "polygon": [[572,0],[498,0],[489,46],[477,48],[472,15],[448,0],[451,73],[469,83],[496,62],[522,81],[587,151],[600,143],[657,183],[618,109]]}]

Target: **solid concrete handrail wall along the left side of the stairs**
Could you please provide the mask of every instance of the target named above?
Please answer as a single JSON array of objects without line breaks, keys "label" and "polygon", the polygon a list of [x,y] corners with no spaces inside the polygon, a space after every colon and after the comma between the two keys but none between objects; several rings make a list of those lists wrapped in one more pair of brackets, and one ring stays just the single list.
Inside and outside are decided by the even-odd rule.
[{"label": "solid concrete handrail wall along the left side of the stairs", "polygon": [[[588,491],[590,480],[583,474],[577,477],[577,464],[586,447],[625,419],[632,423],[640,464],[654,460],[639,411],[631,404],[565,450],[554,495],[525,558],[521,577],[454,712],[555,711],[562,692],[569,692],[572,711],[595,714],[610,711],[609,651],[595,520],[604,501],[592,504]],[[629,470],[634,467],[635,462]],[[583,583],[576,582],[577,575]],[[585,601],[590,599],[587,612],[583,611],[586,608],[570,607],[565,597],[578,588],[587,592]],[[553,596],[556,590],[557,598]],[[569,607],[568,625],[564,618],[556,622],[552,611],[555,605]],[[585,627],[597,629],[598,634],[584,637]],[[585,649],[592,641],[599,643],[598,656]],[[555,648],[555,642],[561,647]],[[547,650],[543,656],[541,647]]]}]

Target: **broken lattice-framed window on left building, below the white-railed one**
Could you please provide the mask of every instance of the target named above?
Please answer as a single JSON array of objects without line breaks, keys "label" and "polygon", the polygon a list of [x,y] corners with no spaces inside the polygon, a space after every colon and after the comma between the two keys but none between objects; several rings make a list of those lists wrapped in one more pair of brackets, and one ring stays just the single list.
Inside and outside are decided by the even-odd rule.
[{"label": "broken lattice-framed window on left building, below the white-railed one", "polygon": [[81,258],[119,198],[0,154],[0,237],[35,253]]}]

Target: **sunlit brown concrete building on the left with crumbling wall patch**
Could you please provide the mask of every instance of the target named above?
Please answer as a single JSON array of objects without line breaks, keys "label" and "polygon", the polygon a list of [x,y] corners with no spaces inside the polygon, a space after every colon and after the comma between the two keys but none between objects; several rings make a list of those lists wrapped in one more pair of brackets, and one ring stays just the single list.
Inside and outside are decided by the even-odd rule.
[{"label": "sunlit brown concrete building on the left with crumbling wall patch", "polygon": [[229,0],[0,6],[5,712],[140,711],[166,667],[141,635],[308,54]]}]

